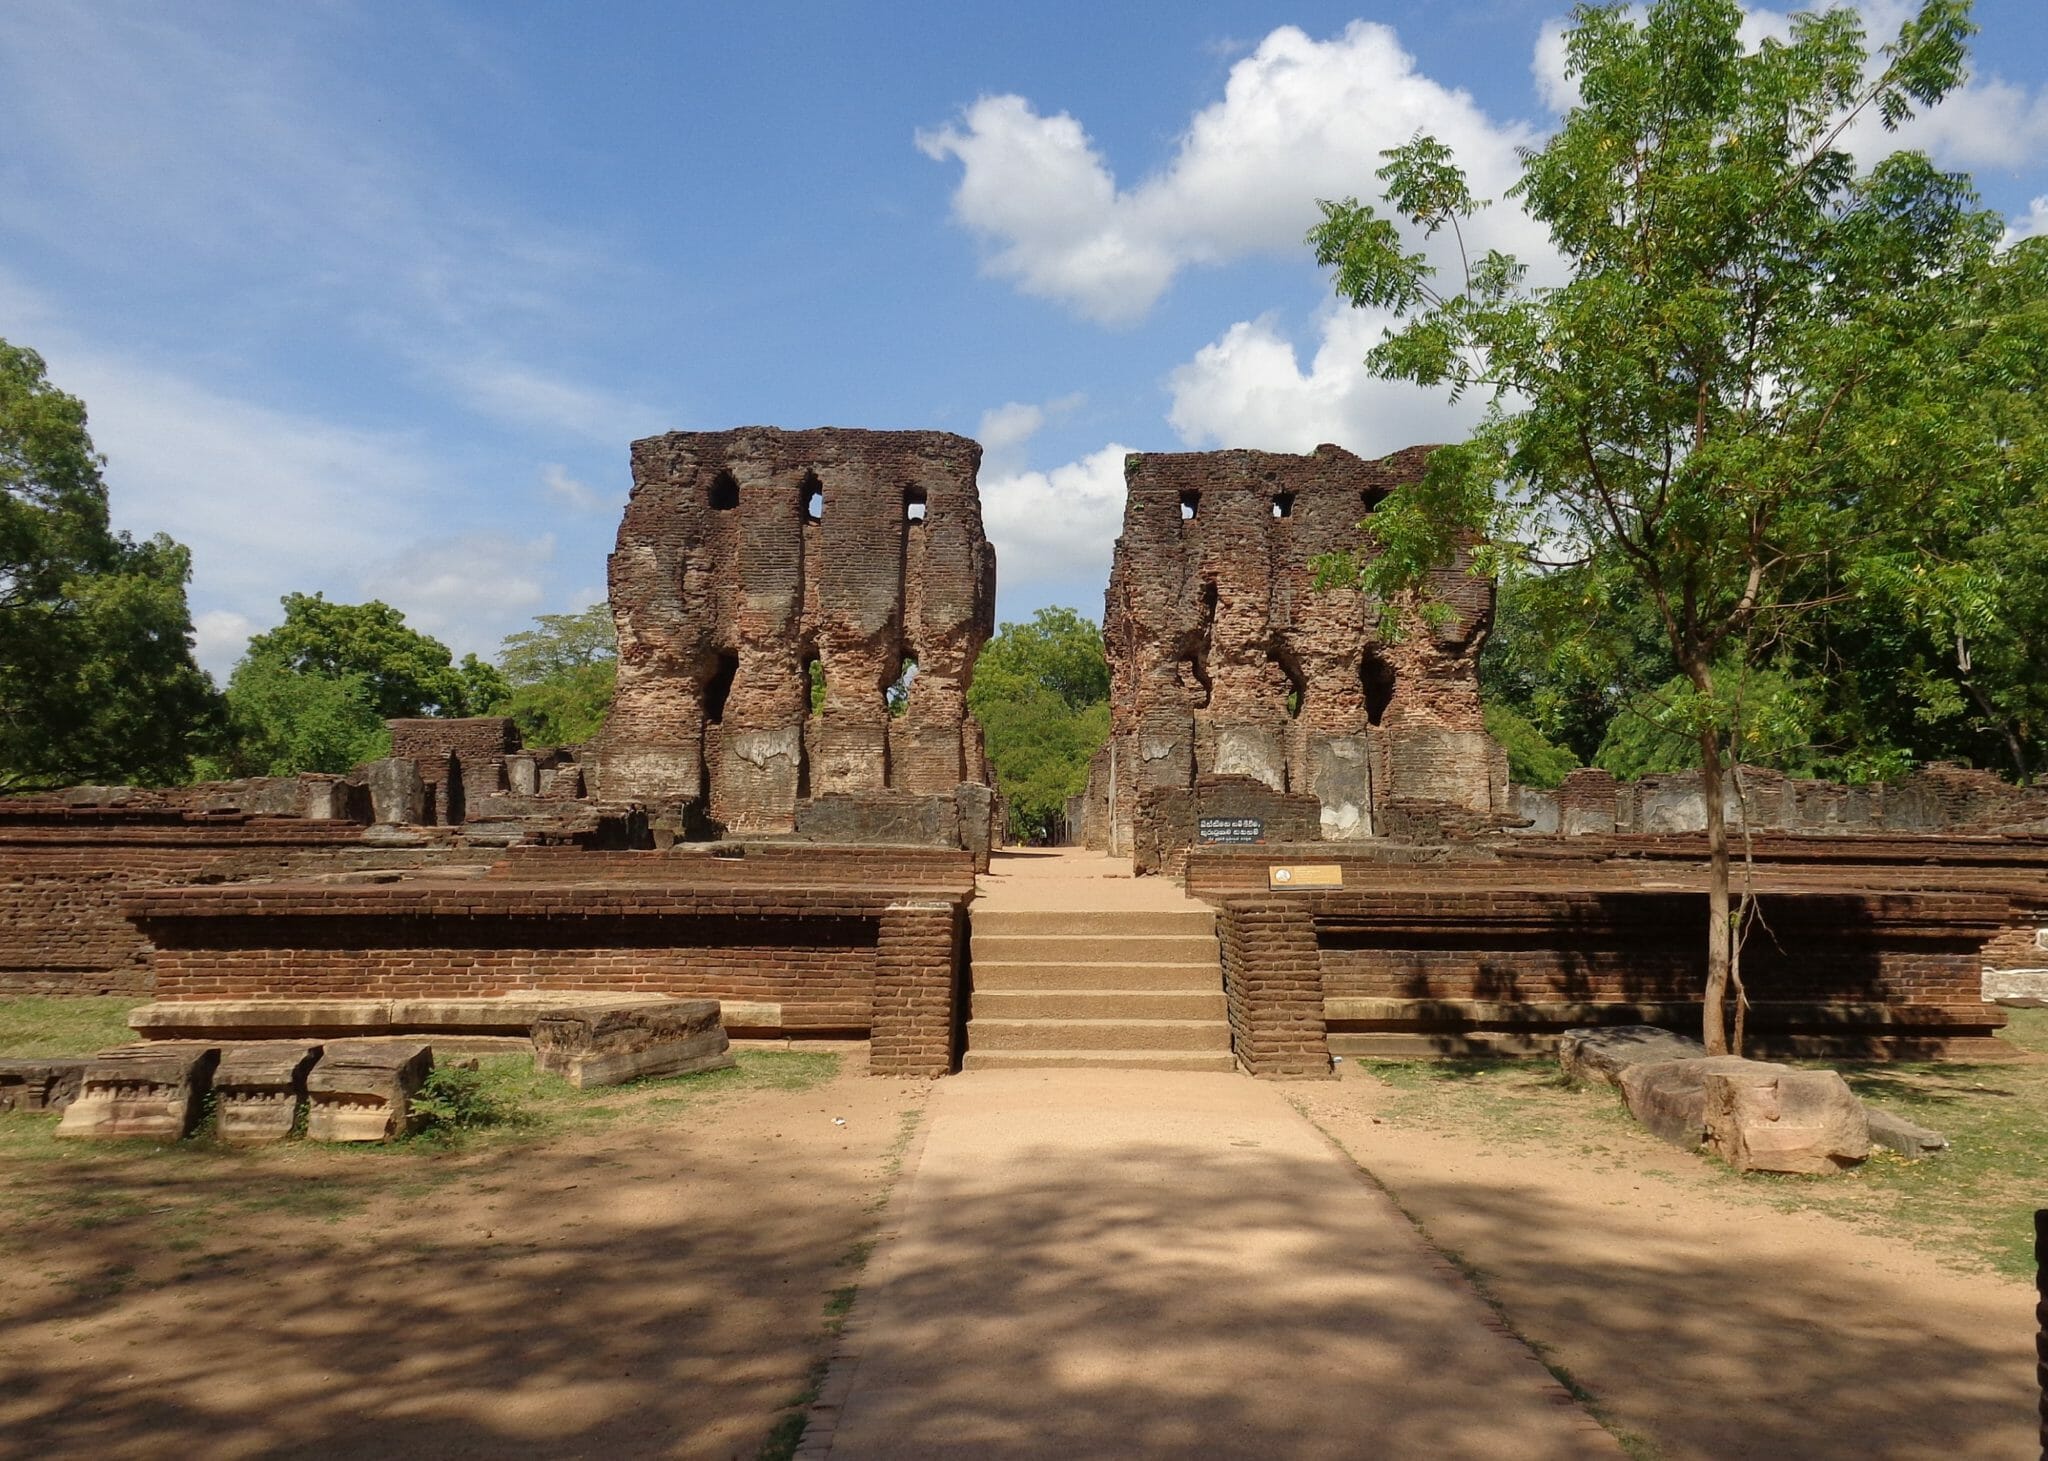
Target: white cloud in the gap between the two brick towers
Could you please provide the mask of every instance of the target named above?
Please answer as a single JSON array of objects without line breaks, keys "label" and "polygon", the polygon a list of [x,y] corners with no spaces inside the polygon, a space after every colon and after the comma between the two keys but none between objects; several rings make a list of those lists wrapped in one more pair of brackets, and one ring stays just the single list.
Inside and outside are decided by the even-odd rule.
[{"label": "white cloud in the gap between the two brick towers", "polygon": [[1110,443],[1051,471],[1014,471],[981,482],[981,520],[995,545],[1004,596],[1034,584],[1110,576],[1110,549],[1124,525],[1124,457]]}]

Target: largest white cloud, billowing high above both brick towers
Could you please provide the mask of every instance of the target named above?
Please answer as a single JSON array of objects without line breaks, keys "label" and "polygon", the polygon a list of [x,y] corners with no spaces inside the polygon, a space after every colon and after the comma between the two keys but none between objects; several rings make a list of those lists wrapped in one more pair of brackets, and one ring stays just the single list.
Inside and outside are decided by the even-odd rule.
[{"label": "largest white cloud, billowing high above both brick towers", "polygon": [[[1368,193],[1380,152],[1417,131],[1458,152],[1481,197],[1505,191],[1513,150],[1534,139],[1421,76],[1391,27],[1354,20],[1331,41],[1268,35],[1231,68],[1223,100],[1190,119],[1174,160],[1128,191],[1079,121],[1022,96],[983,96],[918,145],[961,162],[952,211],[989,242],[989,273],[1126,324],[1188,264],[1298,252],[1315,199]],[[1499,246],[1538,242],[1513,209],[1491,217]]]}]

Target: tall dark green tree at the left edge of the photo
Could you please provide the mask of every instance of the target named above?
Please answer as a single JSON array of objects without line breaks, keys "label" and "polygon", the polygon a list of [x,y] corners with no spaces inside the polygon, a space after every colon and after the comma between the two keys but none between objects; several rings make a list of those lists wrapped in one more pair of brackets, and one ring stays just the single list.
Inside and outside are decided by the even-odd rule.
[{"label": "tall dark green tree at the left edge of the photo", "polygon": [[106,516],[86,408],[0,340],[0,791],[170,783],[219,729],[190,555]]}]

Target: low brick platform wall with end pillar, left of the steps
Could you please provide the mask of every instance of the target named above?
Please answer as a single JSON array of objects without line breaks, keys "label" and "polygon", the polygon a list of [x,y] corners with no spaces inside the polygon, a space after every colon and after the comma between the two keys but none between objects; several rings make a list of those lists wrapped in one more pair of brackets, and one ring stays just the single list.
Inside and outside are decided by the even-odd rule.
[{"label": "low brick platform wall with end pillar, left of the steps", "polygon": [[864,1035],[877,1074],[952,1070],[969,854],[911,859],[924,887],[778,883],[801,863],[739,861],[565,852],[526,861],[553,881],[174,887],[125,908],[160,1002],[674,994],[721,1000],[739,1033]]}]

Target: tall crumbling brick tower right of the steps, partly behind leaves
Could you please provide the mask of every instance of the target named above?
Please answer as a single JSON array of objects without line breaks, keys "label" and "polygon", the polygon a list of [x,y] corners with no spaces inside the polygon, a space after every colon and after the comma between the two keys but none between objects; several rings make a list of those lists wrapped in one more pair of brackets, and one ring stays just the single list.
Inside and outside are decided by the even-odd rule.
[{"label": "tall crumbling brick tower right of the steps, partly behind leaves", "polygon": [[[1110,746],[1090,799],[1128,852],[1159,787],[1251,777],[1321,805],[1325,838],[1374,834],[1399,799],[1505,805],[1505,756],[1479,709],[1493,586],[1468,555],[1430,580],[1440,623],[1317,590],[1311,561],[1358,547],[1358,523],[1415,482],[1427,447],[1362,461],[1339,447],[1133,455],[1104,609]],[[1114,789],[1112,789],[1112,785]]]}]

